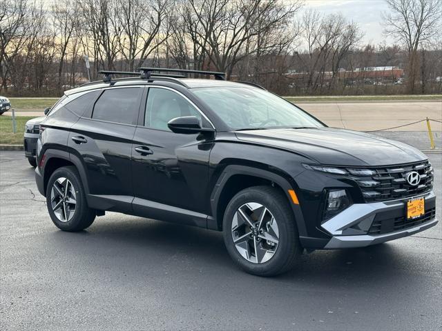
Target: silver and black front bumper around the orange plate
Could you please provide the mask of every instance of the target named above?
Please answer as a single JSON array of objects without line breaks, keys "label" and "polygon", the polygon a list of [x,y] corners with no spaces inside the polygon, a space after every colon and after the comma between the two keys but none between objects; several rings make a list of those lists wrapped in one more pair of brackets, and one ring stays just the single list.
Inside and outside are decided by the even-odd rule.
[{"label": "silver and black front bumper around the orange plate", "polygon": [[410,221],[405,219],[405,205],[409,199],[351,205],[321,225],[332,234],[324,248],[365,247],[431,228],[438,222],[435,217],[436,196],[434,192],[427,192],[417,197],[425,199],[427,212]]}]

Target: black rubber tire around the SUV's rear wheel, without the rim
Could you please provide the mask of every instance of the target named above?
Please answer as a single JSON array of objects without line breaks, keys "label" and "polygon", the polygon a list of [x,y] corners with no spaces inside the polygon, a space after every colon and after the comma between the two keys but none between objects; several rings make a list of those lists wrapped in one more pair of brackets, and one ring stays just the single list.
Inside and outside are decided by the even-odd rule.
[{"label": "black rubber tire around the SUV's rear wheel, without the rim", "polygon": [[[66,177],[67,179],[69,179],[70,183],[73,184],[75,189],[75,197],[77,199],[74,217],[67,222],[62,222],[57,218],[57,216],[55,216],[55,213],[52,210],[52,205],[50,203],[50,193],[52,190],[52,185],[60,177]],[[86,205],[83,185],[81,185],[78,174],[75,170],[70,167],[64,167],[55,170],[55,172],[51,175],[48,181],[48,186],[46,188],[46,205],[48,206],[50,218],[52,219],[52,222],[57,226],[57,228],[64,231],[81,230],[79,228],[81,228],[82,219],[84,217],[84,209],[88,209],[88,206]]]}]

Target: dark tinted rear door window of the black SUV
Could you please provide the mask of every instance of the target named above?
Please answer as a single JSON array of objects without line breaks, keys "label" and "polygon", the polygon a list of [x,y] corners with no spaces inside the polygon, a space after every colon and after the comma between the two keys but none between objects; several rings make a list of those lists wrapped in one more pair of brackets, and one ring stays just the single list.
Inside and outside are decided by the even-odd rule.
[{"label": "dark tinted rear door window of the black SUV", "polygon": [[117,123],[135,124],[138,117],[140,88],[104,90],[95,103],[92,118]]}]

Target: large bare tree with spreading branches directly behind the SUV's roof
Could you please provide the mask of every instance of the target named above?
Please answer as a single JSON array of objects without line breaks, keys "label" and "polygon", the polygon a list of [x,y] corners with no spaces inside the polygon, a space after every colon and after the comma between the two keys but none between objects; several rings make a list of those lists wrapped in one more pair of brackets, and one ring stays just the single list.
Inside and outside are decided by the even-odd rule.
[{"label": "large bare tree with spreading branches directly behind the SUV's roof", "polygon": [[[248,54],[251,39],[287,26],[300,8],[300,1],[278,0],[190,0],[195,17],[195,43],[204,46],[216,70],[227,72]],[[255,43],[258,45],[258,43]],[[246,48],[246,46],[249,46]]]}]

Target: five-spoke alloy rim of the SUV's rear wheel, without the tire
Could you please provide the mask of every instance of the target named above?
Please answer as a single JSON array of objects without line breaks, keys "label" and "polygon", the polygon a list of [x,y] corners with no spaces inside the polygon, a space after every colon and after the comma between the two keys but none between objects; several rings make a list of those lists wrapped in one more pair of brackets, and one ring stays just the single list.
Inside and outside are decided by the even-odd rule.
[{"label": "five-spoke alloy rim of the SUV's rear wheel, without the tire", "polygon": [[65,177],[59,177],[50,190],[50,205],[61,222],[68,222],[74,217],[77,197],[74,185]]}]

